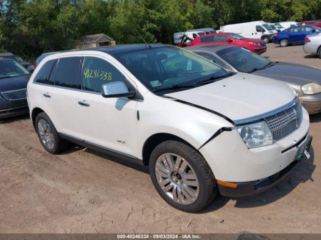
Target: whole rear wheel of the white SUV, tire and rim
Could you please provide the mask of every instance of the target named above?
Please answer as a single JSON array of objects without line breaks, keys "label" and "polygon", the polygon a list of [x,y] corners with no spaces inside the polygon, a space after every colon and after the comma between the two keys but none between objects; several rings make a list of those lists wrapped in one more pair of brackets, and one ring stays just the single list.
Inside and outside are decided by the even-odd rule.
[{"label": "whole rear wheel of the white SUV, tire and rim", "polygon": [[67,149],[69,142],[59,136],[54,124],[45,112],[37,115],[35,124],[39,140],[48,152],[57,154]]}]

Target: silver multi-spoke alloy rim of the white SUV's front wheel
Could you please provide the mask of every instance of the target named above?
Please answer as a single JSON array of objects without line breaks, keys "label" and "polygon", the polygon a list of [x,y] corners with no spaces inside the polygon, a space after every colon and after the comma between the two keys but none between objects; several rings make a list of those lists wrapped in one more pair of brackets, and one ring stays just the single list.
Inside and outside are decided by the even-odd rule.
[{"label": "silver multi-spoke alloy rim of the white SUV's front wheel", "polygon": [[191,204],[199,195],[199,180],[193,167],[182,156],[164,153],[155,164],[159,186],[172,200]]}]

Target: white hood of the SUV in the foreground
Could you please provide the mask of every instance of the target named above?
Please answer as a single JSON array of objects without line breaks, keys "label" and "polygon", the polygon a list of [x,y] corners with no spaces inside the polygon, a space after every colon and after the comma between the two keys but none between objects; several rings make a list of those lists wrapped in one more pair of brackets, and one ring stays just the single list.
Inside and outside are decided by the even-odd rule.
[{"label": "white hood of the SUV in the foreground", "polygon": [[295,94],[280,81],[239,72],[210,84],[165,95],[238,121],[284,106]]}]

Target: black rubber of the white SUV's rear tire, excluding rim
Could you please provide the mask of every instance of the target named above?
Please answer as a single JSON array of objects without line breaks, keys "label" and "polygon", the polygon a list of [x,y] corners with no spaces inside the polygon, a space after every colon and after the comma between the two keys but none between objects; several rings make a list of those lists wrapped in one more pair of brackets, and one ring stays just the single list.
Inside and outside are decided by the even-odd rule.
[{"label": "black rubber of the white SUV's rear tire, excluding rim", "polygon": [[[54,147],[52,149],[48,148],[43,141],[40,138],[40,134],[38,131],[38,122],[40,119],[44,119],[48,122],[48,124],[50,125],[52,134],[54,136]],[[45,113],[45,112],[41,112],[36,116],[36,122],[35,122],[35,126],[36,126],[36,131],[38,134],[38,138],[41,142],[41,144],[43,145],[43,147],[46,149],[46,151],[52,153],[52,154],[57,154],[63,150],[66,150],[69,146],[69,142],[63,138],[61,138],[56,130],[56,127],[54,126],[54,124],[52,123],[52,121],[50,120],[49,116]]]}]

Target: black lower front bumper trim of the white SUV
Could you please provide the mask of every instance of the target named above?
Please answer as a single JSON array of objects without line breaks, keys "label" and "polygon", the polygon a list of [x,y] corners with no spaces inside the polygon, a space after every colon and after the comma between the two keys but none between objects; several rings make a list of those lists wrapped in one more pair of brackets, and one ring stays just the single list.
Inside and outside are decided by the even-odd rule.
[{"label": "black lower front bumper trim of the white SUV", "polygon": [[312,137],[307,135],[301,144],[294,146],[297,148],[297,153],[294,160],[283,168],[281,171],[266,177],[264,179],[249,181],[249,182],[233,182],[237,184],[236,188],[231,188],[218,184],[220,193],[223,196],[228,197],[245,197],[245,196],[254,196],[266,191],[267,189],[277,185],[282,181],[286,175],[288,175],[294,166],[304,157],[304,149],[309,150],[311,145]]}]

